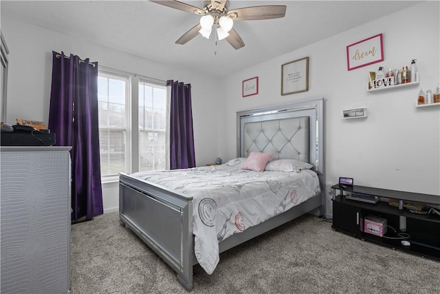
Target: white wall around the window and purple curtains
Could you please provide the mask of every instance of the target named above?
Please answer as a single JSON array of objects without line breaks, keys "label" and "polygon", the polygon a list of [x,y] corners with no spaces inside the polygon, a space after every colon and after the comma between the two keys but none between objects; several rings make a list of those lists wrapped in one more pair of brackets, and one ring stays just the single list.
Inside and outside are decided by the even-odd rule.
[{"label": "white wall around the window and purple curtains", "polygon": [[[98,65],[132,72],[143,76],[183,81],[192,85],[192,115],[195,134],[195,155],[198,166],[217,158],[216,109],[221,101],[214,79],[196,72],[188,72],[173,65],[157,63],[140,56],[120,52],[102,45],[73,38],[35,25],[1,15],[1,31],[10,50],[8,72],[7,123],[16,118],[49,119],[52,78],[52,50],[76,54],[80,58],[98,61]],[[213,119],[214,116],[214,119]],[[118,210],[118,185],[103,187],[104,211]]]}]

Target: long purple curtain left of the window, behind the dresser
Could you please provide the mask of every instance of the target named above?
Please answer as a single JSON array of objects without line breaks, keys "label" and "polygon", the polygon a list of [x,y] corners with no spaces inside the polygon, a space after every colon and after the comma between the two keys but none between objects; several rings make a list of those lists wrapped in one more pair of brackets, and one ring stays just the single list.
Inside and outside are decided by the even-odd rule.
[{"label": "long purple curtain left of the window, behind the dresser", "polygon": [[49,129],[56,145],[72,146],[72,220],[102,214],[98,63],[52,52]]}]

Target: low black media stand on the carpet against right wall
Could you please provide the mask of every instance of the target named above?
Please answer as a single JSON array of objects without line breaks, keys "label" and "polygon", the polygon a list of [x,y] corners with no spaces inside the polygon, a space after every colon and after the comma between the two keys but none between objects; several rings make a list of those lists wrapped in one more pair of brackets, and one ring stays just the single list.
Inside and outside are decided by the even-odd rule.
[{"label": "low black media stand on the carpet against right wall", "polygon": [[[412,213],[408,209],[399,209],[385,201],[375,204],[358,200],[347,199],[350,192],[363,193],[369,196],[377,196],[380,199],[397,199],[408,202],[418,202],[426,204],[428,207],[440,204],[440,196],[410,193],[404,191],[394,191],[387,189],[377,189],[362,186],[343,188],[334,185],[333,189],[333,226],[335,231],[340,231],[348,235],[353,235],[361,240],[390,246],[408,253],[426,256],[440,260],[440,216],[435,214]],[[336,196],[336,193],[340,194]],[[406,231],[410,235],[407,239],[390,239],[364,232],[364,218],[369,215],[386,218],[389,227],[399,233],[401,217],[405,217]],[[388,227],[385,237],[399,238],[393,229]],[[410,242],[410,246],[401,244],[401,240]]]}]

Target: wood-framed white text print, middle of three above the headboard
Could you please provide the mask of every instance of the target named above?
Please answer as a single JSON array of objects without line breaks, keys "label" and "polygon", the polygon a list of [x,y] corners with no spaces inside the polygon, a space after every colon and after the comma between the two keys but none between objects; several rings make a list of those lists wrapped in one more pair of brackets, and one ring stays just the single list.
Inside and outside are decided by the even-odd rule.
[{"label": "wood-framed white text print, middle of three above the headboard", "polygon": [[309,57],[281,65],[281,95],[309,90]]}]

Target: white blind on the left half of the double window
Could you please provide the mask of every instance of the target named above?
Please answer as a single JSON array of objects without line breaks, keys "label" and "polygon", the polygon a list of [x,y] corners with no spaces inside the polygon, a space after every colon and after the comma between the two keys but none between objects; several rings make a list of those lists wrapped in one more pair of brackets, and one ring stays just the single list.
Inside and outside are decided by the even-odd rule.
[{"label": "white blind on the left half of the double window", "polygon": [[102,178],[131,171],[129,94],[129,76],[99,72],[98,119]]}]

